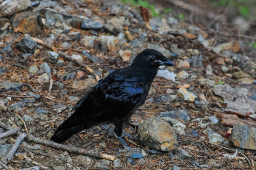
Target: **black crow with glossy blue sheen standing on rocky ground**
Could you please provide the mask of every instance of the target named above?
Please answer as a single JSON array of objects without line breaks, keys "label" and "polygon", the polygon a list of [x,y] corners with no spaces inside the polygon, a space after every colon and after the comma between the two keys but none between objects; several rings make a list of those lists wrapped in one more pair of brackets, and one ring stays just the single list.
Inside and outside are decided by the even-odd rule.
[{"label": "black crow with glossy blue sheen standing on rocky ground", "polygon": [[150,85],[161,65],[173,66],[161,52],[143,50],[131,66],[115,70],[99,81],[72,109],[72,115],[56,129],[51,140],[61,143],[81,130],[113,123],[114,132],[126,149],[122,130],[132,113],[144,104]]}]

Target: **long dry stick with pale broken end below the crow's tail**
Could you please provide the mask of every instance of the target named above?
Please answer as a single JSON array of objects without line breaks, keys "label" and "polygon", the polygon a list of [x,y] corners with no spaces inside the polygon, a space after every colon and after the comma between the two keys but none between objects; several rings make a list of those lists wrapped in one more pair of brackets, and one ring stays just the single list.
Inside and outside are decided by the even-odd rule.
[{"label": "long dry stick with pale broken end below the crow's tail", "polygon": [[[4,128],[4,129],[8,129],[8,130],[11,129],[10,127],[5,125],[1,121],[0,121],[0,127]],[[19,132],[19,134],[22,134],[22,133]],[[45,140],[45,139],[40,139],[39,137],[34,137],[33,135],[27,135],[26,139],[28,141],[31,141],[31,142],[34,142],[34,143],[44,144],[44,145],[49,146],[51,148],[62,149],[62,150],[69,151],[69,152],[72,152],[72,153],[79,153],[79,154],[83,154],[83,155],[90,156],[90,157],[95,157],[95,158],[104,158],[104,159],[108,159],[108,160],[115,160],[115,156],[113,156],[113,155],[100,153],[100,152],[97,152],[97,151],[94,151],[94,150],[84,150],[82,148],[77,148],[76,146],[73,146],[73,145],[54,143],[52,141],[48,141],[48,140]]]}]

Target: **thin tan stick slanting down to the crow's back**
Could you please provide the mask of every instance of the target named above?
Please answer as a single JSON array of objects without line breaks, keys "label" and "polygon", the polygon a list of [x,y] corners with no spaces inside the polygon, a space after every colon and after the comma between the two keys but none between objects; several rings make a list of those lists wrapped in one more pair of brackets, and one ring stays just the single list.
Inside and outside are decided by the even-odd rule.
[{"label": "thin tan stick slanting down to the crow's back", "polygon": [[45,46],[48,47],[49,49],[54,50],[55,52],[58,52],[61,56],[63,56],[63,57],[65,57],[65,58],[69,59],[70,61],[73,61],[74,63],[77,63],[77,65],[83,67],[85,70],[87,70],[88,72],[92,73],[92,75],[95,77],[95,79],[96,79],[97,81],[100,80],[100,79],[99,79],[99,76],[98,76],[95,72],[93,72],[92,68],[90,68],[89,66],[84,65],[82,62],[77,61],[76,59],[74,59],[74,58],[68,56],[67,54],[65,54],[65,53],[62,52],[62,51],[58,51],[55,47],[53,47],[52,45],[50,45],[50,44],[47,43],[47,42],[44,42],[44,41],[42,41],[42,40],[39,40],[38,38],[33,38],[33,37],[31,37],[31,38],[32,38],[35,42],[40,43],[40,44],[42,44],[42,45],[45,45]]}]

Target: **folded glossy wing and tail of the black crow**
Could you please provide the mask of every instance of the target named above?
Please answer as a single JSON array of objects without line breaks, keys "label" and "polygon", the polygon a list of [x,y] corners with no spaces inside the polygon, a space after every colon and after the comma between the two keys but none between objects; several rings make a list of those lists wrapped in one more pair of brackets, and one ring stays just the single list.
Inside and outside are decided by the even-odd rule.
[{"label": "folded glossy wing and tail of the black crow", "polygon": [[84,128],[121,121],[143,104],[146,97],[138,78],[125,78],[114,72],[77,102],[73,114],[57,128],[51,139],[61,143]]}]

